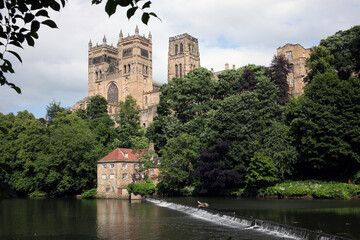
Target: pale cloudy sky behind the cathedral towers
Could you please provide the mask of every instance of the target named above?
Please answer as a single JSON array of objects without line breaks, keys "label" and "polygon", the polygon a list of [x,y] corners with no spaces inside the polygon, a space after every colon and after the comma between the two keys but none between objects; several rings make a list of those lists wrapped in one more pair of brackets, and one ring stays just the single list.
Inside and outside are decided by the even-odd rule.
[{"label": "pale cloudy sky behind the cathedral towers", "polygon": [[[103,0],[104,2],[106,0]],[[0,112],[28,110],[35,117],[46,115],[50,102],[72,107],[87,96],[88,43],[116,46],[124,36],[152,34],[153,80],[167,82],[169,37],[188,33],[199,40],[200,64],[220,71],[225,63],[236,68],[257,64],[269,66],[276,49],[287,43],[305,48],[321,39],[360,24],[359,0],[153,0],[151,11],[161,19],[141,23],[136,13],[129,21],[126,9],[110,18],[105,4],[69,0],[65,8],[51,12],[58,29],[42,26],[35,47],[17,52],[23,63],[12,59],[15,74],[6,75],[22,90],[17,94],[0,86]],[[1,52],[3,51],[0,49]]]}]

